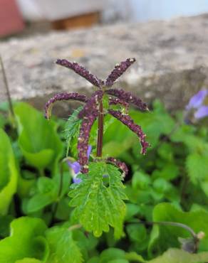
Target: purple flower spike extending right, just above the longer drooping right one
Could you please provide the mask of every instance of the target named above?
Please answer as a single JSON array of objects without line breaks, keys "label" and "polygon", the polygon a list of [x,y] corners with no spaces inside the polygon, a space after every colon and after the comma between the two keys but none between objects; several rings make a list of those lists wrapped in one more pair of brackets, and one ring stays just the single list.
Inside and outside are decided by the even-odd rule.
[{"label": "purple flower spike extending right, just above the longer drooping right one", "polygon": [[135,97],[130,92],[125,92],[124,90],[117,90],[117,89],[110,89],[106,90],[106,93],[109,95],[113,95],[115,97],[118,97],[120,100],[124,100],[125,102],[134,104],[138,109],[145,111],[148,109],[147,104],[145,102],[142,102],[142,100],[139,97]]}]

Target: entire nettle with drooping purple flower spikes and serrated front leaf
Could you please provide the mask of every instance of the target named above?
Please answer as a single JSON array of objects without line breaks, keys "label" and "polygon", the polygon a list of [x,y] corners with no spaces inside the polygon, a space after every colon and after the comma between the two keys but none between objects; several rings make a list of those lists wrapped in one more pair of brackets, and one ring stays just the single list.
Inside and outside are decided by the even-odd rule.
[{"label": "entire nettle with drooping purple flower spikes and serrated front leaf", "polygon": [[[56,64],[73,70],[93,84],[94,92],[91,97],[80,95],[78,92],[60,93],[46,103],[46,118],[50,119],[53,104],[62,100],[76,100],[84,103],[68,119],[68,149],[70,141],[76,134],[78,161],[68,161],[73,171],[73,184],[69,192],[70,205],[75,207],[74,216],[87,231],[93,231],[99,237],[103,231],[108,232],[109,226],[114,227],[115,237],[123,234],[123,220],[125,217],[125,203],[123,178],[128,173],[125,163],[113,157],[103,156],[103,131],[105,115],[118,119],[132,132],[137,134],[141,145],[141,154],[145,154],[150,144],[145,141],[145,133],[128,115],[130,104],[141,111],[147,111],[147,104],[139,97],[121,89],[113,89],[115,80],[127,70],[135,58],[115,65],[113,71],[105,81],[100,80],[78,63],[58,59]],[[118,109],[119,107],[119,109]],[[115,109],[116,108],[116,109]],[[90,132],[94,122],[98,119],[96,154],[90,157]],[[93,133],[92,136],[95,136]],[[116,136],[116,134],[112,134]],[[68,151],[67,151],[68,154]],[[89,161],[90,158],[90,161]]]}]

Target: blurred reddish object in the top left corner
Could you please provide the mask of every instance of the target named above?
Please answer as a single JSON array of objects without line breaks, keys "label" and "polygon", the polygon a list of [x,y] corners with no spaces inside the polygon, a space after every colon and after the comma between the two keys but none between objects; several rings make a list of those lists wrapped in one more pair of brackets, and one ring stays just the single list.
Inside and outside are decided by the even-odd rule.
[{"label": "blurred reddish object in the top left corner", "polygon": [[24,21],[15,0],[0,0],[0,36],[24,29]]}]

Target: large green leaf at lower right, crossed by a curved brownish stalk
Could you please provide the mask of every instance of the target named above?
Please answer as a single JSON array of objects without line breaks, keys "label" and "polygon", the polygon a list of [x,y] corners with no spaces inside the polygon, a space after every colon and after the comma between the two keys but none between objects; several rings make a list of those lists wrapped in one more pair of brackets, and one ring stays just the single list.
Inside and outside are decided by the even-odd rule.
[{"label": "large green leaf at lower right, crossed by a curved brownish stalk", "polygon": [[[183,212],[175,208],[170,203],[160,203],[155,206],[153,210],[153,221],[172,221],[181,222],[189,227],[192,227],[194,232],[198,233],[203,231],[205,236],[199,244],[200,251],[207,251],[208,246],[208,212],[198,209],[190,212]],[[152,252],[155,247],[165,250],[168,247],[180,247],[178,237],[189,237],[190,234],[187,230],[181,227],[174,227],[170,225],[154,225],[152,229],[149,249]]]}]

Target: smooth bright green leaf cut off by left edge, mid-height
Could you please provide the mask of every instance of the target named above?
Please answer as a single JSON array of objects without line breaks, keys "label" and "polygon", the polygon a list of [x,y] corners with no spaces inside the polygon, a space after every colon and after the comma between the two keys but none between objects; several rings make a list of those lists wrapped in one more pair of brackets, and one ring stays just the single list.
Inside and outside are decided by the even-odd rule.
[{"label": "smooth bright green leaf cut off by left edge, mid-height", "polygon": [[18,171],[9,137],[0,129],[0,215],[6,215],[16,193]]}]

